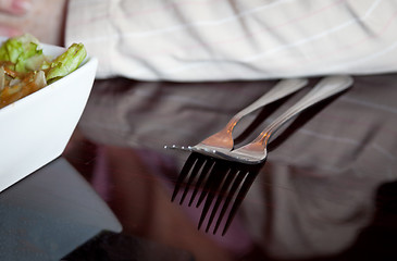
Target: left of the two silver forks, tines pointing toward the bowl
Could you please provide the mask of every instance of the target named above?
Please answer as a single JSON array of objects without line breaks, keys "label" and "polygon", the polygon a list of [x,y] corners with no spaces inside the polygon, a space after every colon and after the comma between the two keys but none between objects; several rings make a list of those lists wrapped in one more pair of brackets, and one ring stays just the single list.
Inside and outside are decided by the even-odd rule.
[{"label": "left of the two silver forks, tines pointing toward the bowl", "polygon": [[173,145],[171,147],[164,146],[166,149],[184,149],[189,151],[209,152],[212,150],[218,151],[229,151],[233,149],[233,129],[237,123],[249,113],[270,104],[276,100],[280,100],[288,95],[291,95],[308,84],[306,78],[290,78],[278,82],[271,90],[260,97],[258,100],[252,102],[247,108],[237,112],[220,132],[211,135],[203,139],[196,146],[178,147]]}]

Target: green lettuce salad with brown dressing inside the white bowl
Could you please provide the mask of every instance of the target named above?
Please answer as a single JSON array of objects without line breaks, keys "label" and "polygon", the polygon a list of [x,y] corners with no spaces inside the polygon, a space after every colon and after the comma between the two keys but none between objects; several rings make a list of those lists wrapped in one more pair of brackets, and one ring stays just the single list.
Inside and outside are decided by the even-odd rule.
[{"label": "green lettuce salad with brown dressing inside the white bowl", "polygon": [[0,47],[0,108],[72,73],[86,55],[83,44],[73,44],[51,60],[32,35],[8,39]]}]

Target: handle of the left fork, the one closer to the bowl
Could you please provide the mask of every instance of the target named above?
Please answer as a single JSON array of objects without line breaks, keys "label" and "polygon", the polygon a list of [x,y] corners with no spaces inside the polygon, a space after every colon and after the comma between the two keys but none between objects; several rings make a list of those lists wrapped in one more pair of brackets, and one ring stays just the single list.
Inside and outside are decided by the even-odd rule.
[{"label": "handle of the left fork, the one closer to the bowl", "polygon": [[295,91],[301,89],[308,84],[308,79],[306,78],[289,78],[283,79],[278,82],[271,90],[265,92],[262,97],[258,100],[252,102],[249,107],[246,107],[241,111],[237,112],[226,124],[226,128],[229,133],[233,132],[233,128],[237,125],[237,122],[241,120],[245,115],[266,105],[270,104],[283,97],[286,97]]}]

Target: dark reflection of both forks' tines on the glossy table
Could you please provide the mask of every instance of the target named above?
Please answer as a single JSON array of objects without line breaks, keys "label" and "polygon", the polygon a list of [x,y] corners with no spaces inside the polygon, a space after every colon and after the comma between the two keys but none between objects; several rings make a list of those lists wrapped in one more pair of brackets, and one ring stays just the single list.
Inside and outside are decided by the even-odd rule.
[{"label": "dark reflection of both forks' tines on the glossy table", "polygon": [[207,220],[206,233],[213,225],[212,233],[216,234],[223,224],[222,235],[225,235],[263,164],[240,164],[191,152],[179,173],[171,200],[175,201],[181,195],[179,204],[183,204],[191,191],[188,207],[199,208],[204,202],[198,229]]}]

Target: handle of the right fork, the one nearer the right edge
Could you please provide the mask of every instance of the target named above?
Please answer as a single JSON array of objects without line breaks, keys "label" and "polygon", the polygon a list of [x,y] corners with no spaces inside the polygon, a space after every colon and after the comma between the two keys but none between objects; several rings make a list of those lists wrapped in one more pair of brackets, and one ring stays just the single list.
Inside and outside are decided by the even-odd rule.
[{"label": "handle of the right fork, the one nearer the right edge", "polygon": [[252,141],[265,145],[271,135],[276,132],[284,123],[289,121],[309,107],[346,90],[352,85],[352,78],[347,75],[328,76],[320,80],[312,90],[303,98],[289,108],[286,112],[274,120],[263,132]]}]

